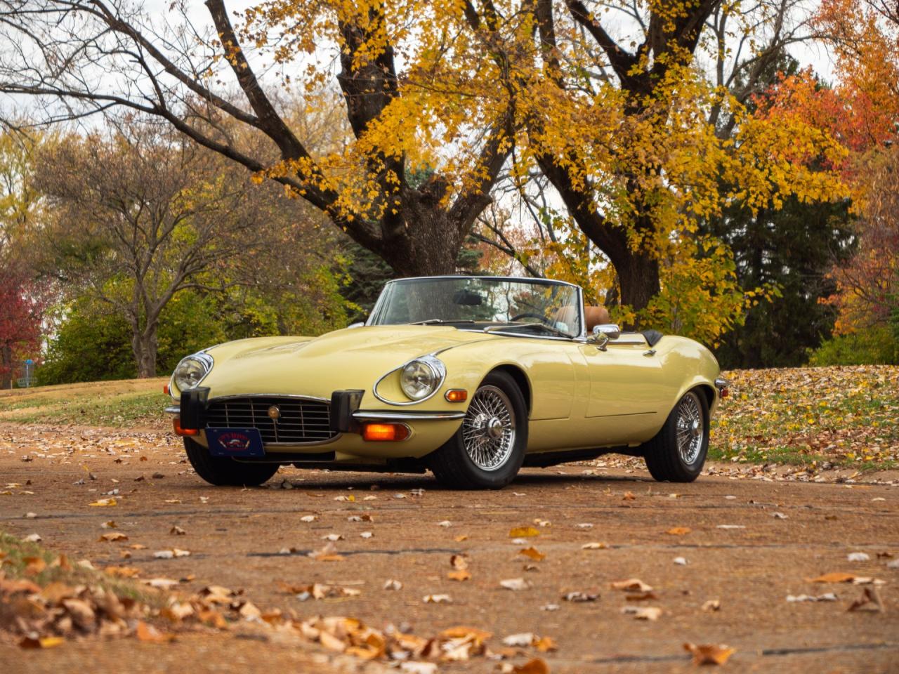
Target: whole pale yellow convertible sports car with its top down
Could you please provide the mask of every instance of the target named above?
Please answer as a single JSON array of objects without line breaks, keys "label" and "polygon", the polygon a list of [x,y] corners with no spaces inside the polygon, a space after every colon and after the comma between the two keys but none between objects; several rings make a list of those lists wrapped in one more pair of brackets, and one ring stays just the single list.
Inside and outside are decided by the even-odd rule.
[{"label": "whole pale yellow convertible sports car with its top down", "polygon": [[718,374],[701,344],[621,333],[569,283],[397,279],[364,324],[182,359],[166,412],[213,484],[261,484],[292,464],[499,488],[521,466],[609,452],[690,482],[726,393]]}]

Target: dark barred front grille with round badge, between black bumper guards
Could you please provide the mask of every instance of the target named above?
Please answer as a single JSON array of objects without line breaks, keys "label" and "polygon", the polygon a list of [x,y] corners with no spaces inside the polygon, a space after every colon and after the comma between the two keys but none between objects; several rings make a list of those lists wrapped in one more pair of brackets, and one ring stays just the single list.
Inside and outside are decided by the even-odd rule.
[{"label": "dark barred front grille with round badge, between black bumper guards", "polygon": [[[278,408],[277,421],[269,410]],[[263,442],[296,444],[334,438],[330,403],[284,395],[248,395],[213,400],[206,410],[212,428],[259,429]]]}]

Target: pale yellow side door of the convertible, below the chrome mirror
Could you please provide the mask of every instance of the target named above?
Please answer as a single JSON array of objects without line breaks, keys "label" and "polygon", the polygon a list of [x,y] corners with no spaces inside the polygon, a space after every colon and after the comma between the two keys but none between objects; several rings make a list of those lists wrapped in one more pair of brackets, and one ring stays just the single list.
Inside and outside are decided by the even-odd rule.
[{"label": "pale yellow side door of the convertible, below the chrome mirror", "polygon": [[[602,445],[636,444],[663,423],[671,398],[661,360],[640,333],[622,333],[605,349],[581,346],[590,376],[585,425]],[[648,433],[648,435],[647,435]]]}]

